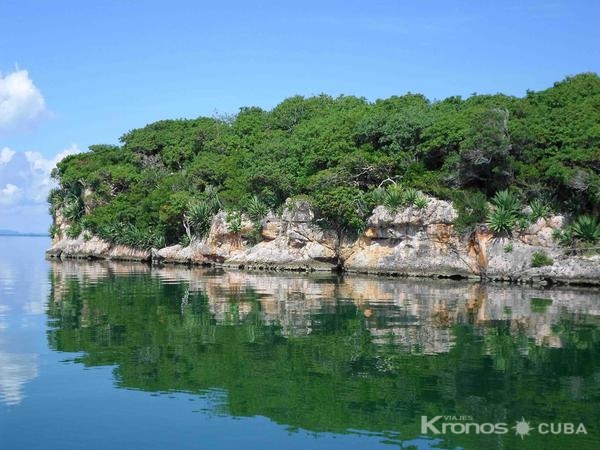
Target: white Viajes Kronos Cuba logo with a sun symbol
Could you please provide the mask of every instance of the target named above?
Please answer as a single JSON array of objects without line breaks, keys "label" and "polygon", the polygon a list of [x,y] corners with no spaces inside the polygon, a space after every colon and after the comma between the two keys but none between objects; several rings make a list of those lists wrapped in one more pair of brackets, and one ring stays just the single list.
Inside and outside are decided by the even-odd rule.
[{"label": "white Viajes Kronos Cuba logo with a sun symbol", "polygon": [[538,434],[587,434],[585,426],[580,423],[539,423],[532,426],[531,422],[521,417],[514,427],[507,423],[477,423],[472,416],[435,416],[429,419],[421,416],[421,433],[423,434],[506,434],[510,429],[515,430],[515,435],[523,439],[531,436],[531,432]]}]

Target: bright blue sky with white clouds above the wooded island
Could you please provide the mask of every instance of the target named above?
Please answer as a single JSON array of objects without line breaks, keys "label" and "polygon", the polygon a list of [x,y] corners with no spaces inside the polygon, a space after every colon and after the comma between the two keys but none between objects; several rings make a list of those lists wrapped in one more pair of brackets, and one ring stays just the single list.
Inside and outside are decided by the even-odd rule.
[{"label": "bright blue sky with white clouds above the wooded island", "polygon": [[600,2],[0,0],[0,229],[60,158],[292,95],[522,96],[600,72]]}]

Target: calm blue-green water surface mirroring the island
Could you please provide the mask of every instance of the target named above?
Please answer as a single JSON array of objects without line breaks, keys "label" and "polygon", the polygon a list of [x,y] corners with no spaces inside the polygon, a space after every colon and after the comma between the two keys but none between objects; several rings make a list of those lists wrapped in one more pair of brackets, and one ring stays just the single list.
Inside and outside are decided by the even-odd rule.
[{"label": "calm blue-green water surface mirroring the island", "polygon": [[[50,263],[48,244],[0,237],[0,449],[600,448],[597,290]],[[438,415],[509,431],[422,433]]]}]

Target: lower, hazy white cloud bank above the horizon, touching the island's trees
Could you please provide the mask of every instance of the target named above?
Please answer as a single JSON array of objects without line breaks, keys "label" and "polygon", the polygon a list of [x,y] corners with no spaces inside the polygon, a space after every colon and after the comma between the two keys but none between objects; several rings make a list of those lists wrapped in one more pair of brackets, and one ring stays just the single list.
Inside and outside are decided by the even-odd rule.
[{"label": "lower, hazy white cloud bank above the horizon, touching the island's trees", "polygon": [[55,186],[50,173],[61,159],[75,153],[80,153],[75,144],[50,158],[39,152],[3,148],[0,151],[0,228],[44,231],[50,220],[46,198]]}]

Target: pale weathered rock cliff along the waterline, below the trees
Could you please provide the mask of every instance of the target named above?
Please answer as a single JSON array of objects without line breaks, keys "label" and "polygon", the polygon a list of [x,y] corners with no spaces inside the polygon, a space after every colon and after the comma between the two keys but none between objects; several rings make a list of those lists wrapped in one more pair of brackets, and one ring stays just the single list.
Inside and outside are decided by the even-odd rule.
[{"label": "pale weathered rock cliff along the waterline, below the trees", "polygon": [[[315,223],[310,204],[288,201],[281,215],[262,221],[260,240],[243,219],[239,232],[228,231],[224,212],[217,214],[207,237],[189,246],[142,250],[106,242],[82,233],[68,238],[68,224],[47,251],[49,258],[140,261],[157,265],[187,264],[247,270],[302,270],[395,276],[476,278],[520,283],[600,285],[600,255],[569,254],[553,239],[564,218],[539,219],[509,237],[495,237],[485,226],[458,233],[450,202],[428,198],[425,208],[390,213],[374,209],[359,236],[336,233]],[[535,253],[548,265],[532,267]]]}]

